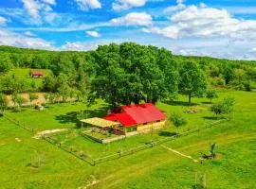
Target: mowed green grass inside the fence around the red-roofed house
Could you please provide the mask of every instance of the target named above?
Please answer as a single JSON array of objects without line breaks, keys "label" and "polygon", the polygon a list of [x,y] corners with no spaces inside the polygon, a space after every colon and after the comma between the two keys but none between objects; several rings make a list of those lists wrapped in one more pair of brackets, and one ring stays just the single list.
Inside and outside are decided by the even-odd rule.
[{"label": "mowed green grass inside the fence around the red-roofed house", "polygon": [[[179,100],[185,100],[186,96],[182,96]],[[202,100],[202,99],[201,99]],[[204,99],[207,101],[207,99]],[[215,120],[213,114],[209,111],[209,104],[201,103],[200,101],[193,103],[193,108],[187,105],[187,102],[176,101],[158,103],[158,107],[164,110],[169,116],[172,112],[182,113],[188,120],[188,125],[178,129],[183,132],[193,128],[200,128],[210,124]],[[173,105],[174,104],[174,105]],[[109,106],[102,100],[98,100],[97,104],[90,107],[87,111],[88,117],[104,116],[109,109]],[[198,112],[189,114],[184,113],[190,109],[196,109]],[[77,115],[85,110],[82,103],[66,103],[47,105],[43,112],[34,110],[31,107],[23,108],[21,112],[6,112],[9,117],[14,118],[16,121],[26,126],[28,129],[34,131],[42,131],[46,129],[71,129],[69,133],[60,133],[54,136],[56,140],[65,146],[74,148],[77,151],[83,151],[85,154],[92,158],[106,156],[108,154],[117,153],[119,150],[127,150],[131,147],[145,145],[152,140],[160,140],[168,137],[168,134],[174,134],[176,129],[167,126],[163,130],[155,130],[146,134],[139,134],[134,137],[129,137],[121,141],[117,141],[107,145],[101,145],[98,142],[88,140],[82,137],[76,129],[81,126]],[[36,120],[36,121],[35,121]]]}]

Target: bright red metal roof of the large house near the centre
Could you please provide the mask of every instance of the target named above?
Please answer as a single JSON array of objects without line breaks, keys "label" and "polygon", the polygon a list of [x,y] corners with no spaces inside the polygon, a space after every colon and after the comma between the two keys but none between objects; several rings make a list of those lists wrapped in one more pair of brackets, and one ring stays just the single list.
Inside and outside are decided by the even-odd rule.
[{"label": "bright red metal roof of the large house near the centre", "polygon": [[119,121],[124,127],[166,119],[166,115],[160,112],[152,103],[122,106],[120,108],[123,111],[122,113],[111,113],[103,119]]}]

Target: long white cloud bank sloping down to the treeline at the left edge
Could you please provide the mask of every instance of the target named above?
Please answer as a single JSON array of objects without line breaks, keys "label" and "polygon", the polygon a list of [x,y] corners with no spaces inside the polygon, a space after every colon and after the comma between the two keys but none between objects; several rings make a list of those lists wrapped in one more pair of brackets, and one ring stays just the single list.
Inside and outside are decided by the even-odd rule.
[{"label": "long white cloud bank sloping down to the treeline at the left edge", "polygon": [[53,43],[46,42],[41,38],[30,38],[22,34],[10,32],[7,29],[0,29],[0,45],[10,45],[26,48],[37,48],[56,50]]}]

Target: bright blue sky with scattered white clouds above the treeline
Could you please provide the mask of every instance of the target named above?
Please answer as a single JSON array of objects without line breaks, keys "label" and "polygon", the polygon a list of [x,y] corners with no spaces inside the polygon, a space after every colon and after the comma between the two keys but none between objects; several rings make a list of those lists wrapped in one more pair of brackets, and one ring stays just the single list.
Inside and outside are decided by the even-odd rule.
[{"label": "bright blue sky with scattered white clouds above the treeline", "polygon": [[256,60],[256,0],[0,1],[0,44],[91,50],[112,42]]}]

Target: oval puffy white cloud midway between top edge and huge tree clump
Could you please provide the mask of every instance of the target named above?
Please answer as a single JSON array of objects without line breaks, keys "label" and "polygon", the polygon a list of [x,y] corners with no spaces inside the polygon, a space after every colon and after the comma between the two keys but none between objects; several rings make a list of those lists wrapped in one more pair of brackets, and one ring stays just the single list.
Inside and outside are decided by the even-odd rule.
[{"label": "oval puffy white cloud midway between top edge and huge tree clump", "polygon": [[131,12],[123,17],[111,20],[113,25],[117,26],[151,26],[152,17],[146,12]]}]

